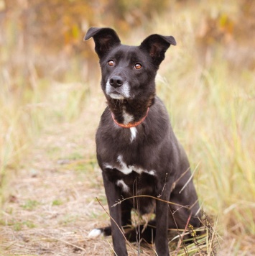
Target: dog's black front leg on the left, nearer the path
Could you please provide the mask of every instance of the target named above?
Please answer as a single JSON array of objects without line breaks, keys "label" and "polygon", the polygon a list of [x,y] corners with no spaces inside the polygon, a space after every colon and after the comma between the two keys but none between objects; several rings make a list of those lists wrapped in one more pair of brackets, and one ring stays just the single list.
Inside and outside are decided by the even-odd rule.
[{"label": "dog's black front leg on the left, nearer the path", "polygon": [[[106,171],[103,171],[103,185],[106,191],[106,198],[111,215],[111,237],[113,239],[113,249],[116,255],[128,255],[126,251],[126,240],[121,232],[121,204],[116,204],[121,198],[119,188],[111,180],[108,180]],[[113,221],[114,220],[114,221]]]}]

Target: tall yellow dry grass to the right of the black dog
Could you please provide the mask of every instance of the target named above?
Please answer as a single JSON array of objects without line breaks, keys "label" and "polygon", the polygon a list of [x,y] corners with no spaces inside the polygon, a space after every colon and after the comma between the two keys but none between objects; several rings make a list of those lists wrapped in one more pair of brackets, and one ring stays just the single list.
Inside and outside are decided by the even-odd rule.
[{"label": "tall yellow dry grass to the right of the black dog", "polygon": [[218,219],[219,251],[238,255],[250,252],[246,238],[255,235],[255,75],[242,65],[233,68],[220,44],[201,65],[195,51],[197,17],[190,12],[172,14],[172,24],[160,22],[162,17],[154,24],[177,40],[159,69],[157,92],[193,169],[199,164],[195,184],[203,209]]}]

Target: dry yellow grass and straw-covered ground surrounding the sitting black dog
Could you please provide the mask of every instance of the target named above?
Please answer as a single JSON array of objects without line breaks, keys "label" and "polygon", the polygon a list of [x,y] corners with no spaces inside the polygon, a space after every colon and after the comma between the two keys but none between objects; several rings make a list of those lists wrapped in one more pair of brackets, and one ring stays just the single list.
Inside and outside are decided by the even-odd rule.
[{"label": "dry yellow grass and straw-covered ground surrounding the sitting black dog", "polygon": [[[205,235],[195,237],[199,246],[195,241],[185,247],[175,239],[171,255],[215,255],[214,247],[217,255],[254,255],[254,51],[236,44],[228,32],[219,42],[217,36],[204,41],[205,17],[225,14],[233,22],[238,17],[238,1],[209,2],[185,9],[176,3],[123,41],[139,44],[155,31],[177,40],[159,70],[157,92],[192,167],[198,165],[195,185],[213,220],[204,220]],[[22,73],[15,81],[10,75],[7,66],[0,87],[0,171],[1,178],[9,173],[11,178],[9,189],[1,184],[9,196],[1,211],[0,254],[111,255],[111,238],[87,237],[109,222],[95,200],[106,207],[94,142],[104,108],[98,81],[71,83],[77,79],[69,73],[56,83],[30,72],[36,85],[31,88],[22,87]],[[137,252],[137,244],[132,246]],[[140,254],[153,250],[142,247]]]}]

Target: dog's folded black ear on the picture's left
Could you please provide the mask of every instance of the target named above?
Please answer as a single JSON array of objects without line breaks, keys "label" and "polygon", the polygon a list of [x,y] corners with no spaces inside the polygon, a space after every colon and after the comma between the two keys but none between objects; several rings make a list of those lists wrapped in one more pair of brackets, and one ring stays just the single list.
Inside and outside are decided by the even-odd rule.
[{"label": "dog's folded black ear on the picture's left", "polygon": [[88,29],[84,40],[88,40],[91,37],[95,41],[95,50],[99,58],[102,58],[112,47],[121,44],[116,32],[109,27],[91,27]]}]

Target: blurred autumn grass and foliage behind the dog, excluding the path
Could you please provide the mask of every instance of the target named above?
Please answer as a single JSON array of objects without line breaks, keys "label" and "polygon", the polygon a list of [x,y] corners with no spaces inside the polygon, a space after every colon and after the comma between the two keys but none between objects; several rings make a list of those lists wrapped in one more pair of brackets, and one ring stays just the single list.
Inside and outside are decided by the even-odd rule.
[{"label": "blurred autumn grass and foliage behind the dog, excluding the path", "polygon": [[175,37],[157,93],[195,169],[219,251],[255,255],[253,0],[0,0],[1,206],[49,125],[95,118],[80,128],[83,158],[96,166],[91,131],[105,105],[93,40],[83,42],[91,26],[112,27],[131,45],[154,33]]}]

